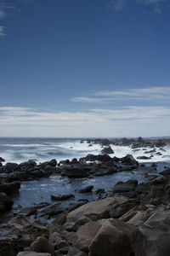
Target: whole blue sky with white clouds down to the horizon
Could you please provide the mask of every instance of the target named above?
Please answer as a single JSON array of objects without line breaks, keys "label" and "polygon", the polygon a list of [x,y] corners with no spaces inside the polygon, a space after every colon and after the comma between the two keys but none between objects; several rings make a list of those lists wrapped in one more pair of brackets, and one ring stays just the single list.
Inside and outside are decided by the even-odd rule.
[{"label": "whole blue sky with white clouds down to the horizon", "polygon": [[169,127],[169,0],[0,0],[0,137]]}]

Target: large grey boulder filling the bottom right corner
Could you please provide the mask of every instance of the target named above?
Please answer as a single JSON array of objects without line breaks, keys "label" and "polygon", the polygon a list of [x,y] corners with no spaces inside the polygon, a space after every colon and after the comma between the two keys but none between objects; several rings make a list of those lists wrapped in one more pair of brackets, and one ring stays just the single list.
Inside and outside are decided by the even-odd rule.
[{"label": "large grey boulder filling the bottom right corner", "polygon": [[132,242],[135,256],[169,256],[170,251],[169,212],[155,212],[133,232]]}]

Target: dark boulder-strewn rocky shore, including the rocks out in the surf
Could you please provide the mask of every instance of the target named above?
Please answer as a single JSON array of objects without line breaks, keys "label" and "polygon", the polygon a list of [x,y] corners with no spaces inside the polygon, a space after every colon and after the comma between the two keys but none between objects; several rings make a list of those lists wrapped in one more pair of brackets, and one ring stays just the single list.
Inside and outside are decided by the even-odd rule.
[{"label": "dark boulder-strewn rocky shore, including the rocks out in the surf", "polygon": [[[123,142],[127,143],[125,139]],[[170,168],[167,166],[150,175],[145,183],[131,179],[116,183],[111,191],[102,187],[94,191],[92,185],[77,189],[76,193],[87,195],[86,199],[66,207],[62,202],[71,201],[74,194],[51,195],[54,203],[19,207],[13,218],[5,221],[5,215],[14,211],[13,195],[20,193],[20,183],[24,181],[53,175],[74,181],[117,172],[156,173],[156,164],[139,164],[131,154],[111,157],[109,140],[89,143],[104,146],[101,154],[40,164],[34,160],[4,164],[0,158],[0,256],[170,255]],[[162,148],[168,142],[145,142],[138,138],[131,143],[140,143],[148,150],[148,147]],[[88,201],[91,193],[96,195],[96,201]]]}]

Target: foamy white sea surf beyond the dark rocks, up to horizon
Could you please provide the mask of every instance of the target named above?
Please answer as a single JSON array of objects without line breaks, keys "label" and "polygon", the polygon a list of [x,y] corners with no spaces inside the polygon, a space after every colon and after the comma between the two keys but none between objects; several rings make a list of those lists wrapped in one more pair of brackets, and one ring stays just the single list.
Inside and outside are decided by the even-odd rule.
[{"label": "foamy white sea surf beyond the dark rocks, up to horizon", "polygon": [[[137,159],[138,156],[150,156],[150,154],[144,154],[145,151],[150,151],[151,148],[138,148],[135,150],[130,147],[111,145],[114,154],[111,157],[123,157],[126,154],[133,154],[133,157]],[[86,156],[87,154],[100,154],[101,146],[99,144],[84,142],[80,143],[80,139],[21,139],[21,138],[0,138],[0,156],[3,157],[6,162],[20,163],[26,160],[37,160],[42,162],[46,160],[56,159],[65,160],[76,157],[77,159]],[[139,160],[139,162],[158,162],[158,161],[170,161],[170,147],[166,146],[161,151],[156,149],[156,153],[161,152],[162,155],[153,154],[150,160]]]}]

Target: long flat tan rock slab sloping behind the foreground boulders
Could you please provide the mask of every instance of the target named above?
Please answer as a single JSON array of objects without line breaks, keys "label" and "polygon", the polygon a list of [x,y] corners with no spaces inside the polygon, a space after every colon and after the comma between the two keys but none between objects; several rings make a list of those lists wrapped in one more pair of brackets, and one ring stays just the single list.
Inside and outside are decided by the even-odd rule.
[{"label": "long flat tan rock slab sloping behind the foreground boulders", "polygon": [[91,201],[82,207],[78,207],[76,210],[70,212],[66,217],[66,224],[74,224],[82,216],[86,216],[90,219],[110,218],[110,209],[116,203],[124,201],[124,196],[107,197],[99,201]]}]

